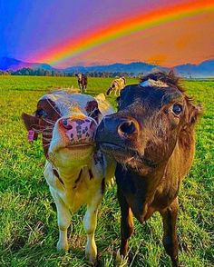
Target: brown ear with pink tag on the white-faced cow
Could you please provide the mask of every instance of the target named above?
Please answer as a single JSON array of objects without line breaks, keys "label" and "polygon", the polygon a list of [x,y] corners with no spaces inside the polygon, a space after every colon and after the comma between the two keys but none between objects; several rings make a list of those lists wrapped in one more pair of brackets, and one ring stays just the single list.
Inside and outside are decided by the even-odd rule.
[{"label": "brown ear with pink tag on the white-faced cow", "polygon": [[[41,119],[34,115],[29,115],[29,114],[22,114],[22,119],[28,131],[28,140],[29,140],[29,134],[34,134],[32,138],[33,140],[36,140],[38,137],[38,134],[35,131],[40,130]],[[34,131],[34,133],[30,131]],[[32,140],[29,140],[29,141],[32,141]]]}]

